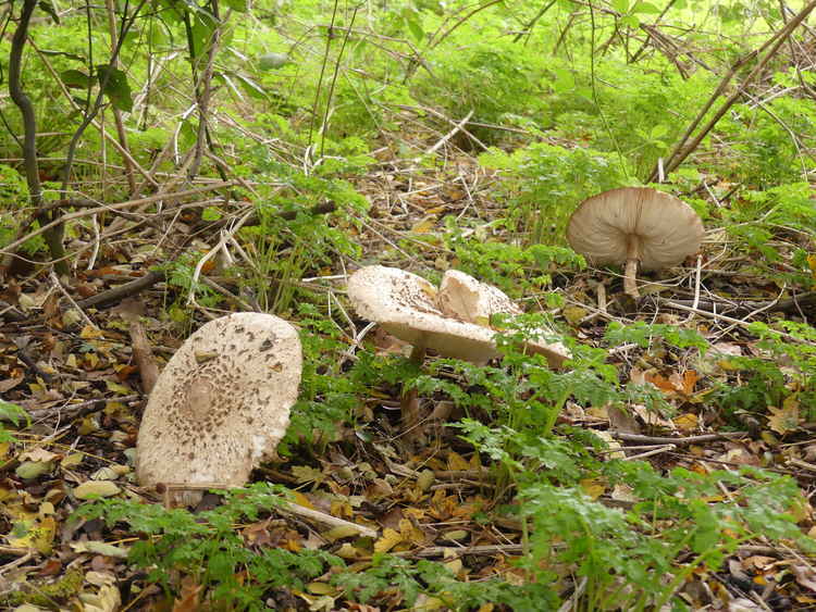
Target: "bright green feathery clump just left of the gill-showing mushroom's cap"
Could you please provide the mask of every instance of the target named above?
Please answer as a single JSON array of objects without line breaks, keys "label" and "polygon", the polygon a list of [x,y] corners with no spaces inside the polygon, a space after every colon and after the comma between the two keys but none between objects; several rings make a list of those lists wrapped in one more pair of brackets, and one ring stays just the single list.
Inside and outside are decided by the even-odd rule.
[{"label": "bright green feathery clump just left of the gill-showing mushroom's cap", "polygon": [[617,155],[535,142],[512,153],[491,150],[480,157],[498,170],[507,200],[507,223],[528,243],[562,245],[567,221],[578,204],[627,183]]}]

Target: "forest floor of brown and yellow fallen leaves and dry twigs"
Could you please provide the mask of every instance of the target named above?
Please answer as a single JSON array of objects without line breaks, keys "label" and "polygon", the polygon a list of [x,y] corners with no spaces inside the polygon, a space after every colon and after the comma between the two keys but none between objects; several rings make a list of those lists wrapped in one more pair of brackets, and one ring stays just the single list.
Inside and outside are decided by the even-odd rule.
[{"label": "forest floor of brown and yellow fallen leaves and dry twigs", "polygon": [[[0,293],[0,416],[11,436],[0,439],[0,609],[634,609],[615,603],[620,601],[681,609],[669,607],[671,597],[687,610],[816,609],[816,557],[776,530],[782,512],[774,497],[791,495],[784,521],[803,538],[816,536],[814,407],[799,401],[813,397],[803,373],[804,365],[813,367],[816,338],[802,328],[757,326],[780,319],[813,323],[816,293],[769,279],[754,265],[756,252],[737,248],[716,224],[706,227],[700,253],[682,265],[640,275],[636,302],[625,295],[617,268],[549,263],[531,272],[535,264],[519,260],[520,278],[549,277],[520,291],[523,309],[547,313],[577,346],[603,349],[605,372],[617,378],[610,385],[645,389],[639,391],[645,399],[579,401],[568,390],[555,433],[535,436],[533,428],[524,434],[532,438],[490,441],[502,430],[521,430],[524,401],[535,396],[523,386],[519,362],[494,360],[482,376],[431,353],[423,364],[430,378],[422,378],[398,359],[408,358],[411,347],[369,326],[345,295],[348,275],[363,264],[438,277],[470,257],[471,271],[506,271],[511,262],[504,254],[457,248],[449,240],[457,228],[474,242],[521,245],[518,232],[498,223],[507,213],[503,176],[477,160],[478,143],[456,128],[446,132],[449,125],[431,132],[405,120],[403,127],[372,147],[366,173],[345,177],[368,201],[367,212],[334,210],[326,201],[313,215],[312,222],[359,247],[357,254],[330,251],[319,265],[306,266],[308,275],[275,280],[297,296],[275,314],[305,337],[325,341],[306,351],[320,359],[304,376],[309,410],[319,413],[341,390],[348,400],[345,413],[330,419],[333,426],[319,417],[313,427],[300,423],[279,460],[252,472],[252,483],[287,487],[289,505],[271,505],[261,489],[250,489],[256,494],[208,492],[193,514],[163,513],[170,492],[139,486],[134,474],[147,365],[163,367],[209,320],[271,310],[258,303],[258,286],[247,290],[247,277],[236,268],[203,264],[228,227],[225,220],[244,218],[251,229],[264,223],[245,218],[252,203],[227,193],[251,192],[257,185],[250,178],[226,187],[196,179],[184,189],[197,191],[176,200],[195,207],[175,215],[116,217],[132,225],[115,240],[95,242],[90,224],[77,229],[69,237],[78,253],[71,278],[36,265],[9,275]],[[433,153],[433,161],[400,158],[396,151],[406,139],[412,150]],[[733,185],[710,178],[700,197],[728,207]],[[176,179],[184,176],[168,184]],[[200,198],[210,197],[221,207],[218,220],[196,212]],[[308,251],[298,251],[297,240],[308,241],[300,230],[284,234],[265,257],[308,259]],[[257,234],[238,236],[258,240]],[[772,240],[784,255],[775,264],[780,272],[790,267],[793,249],[814,250],[813,236],[784,227]],[[173,270],[154,267],[182,253],[188,274],[202,263],[196,282],[188,277],[186,285]],[[508,279],[505,288],[512,284]],[[323,314],[299,310],[304,295]],[[610,337],[613,324],[629,335]],[[705,338],[705,350],[695,338]],[[149,349],[140,362],[139,341]],[[422,383],[417,401],[424,420],[415,432],[404,429],[399,411],[401,383],[409,378]],[[502,380],[519,385],[517,403],[509,392],[515,389],[504,389],[500,399]],[[503,421],[505,429],[478,429],[473,423],[497,419],[502,401],[517,411],[515,421]],[[469,430],[452,426],[463,417]],[[526,440],[541,444],[541,454],[533,457],[530,447],[526,455]],[[617,479],[604,467],[614,461],[623,474]],[[635,475],[626,476],[623,464],[632,461],[651,471],[636,469],[642,480],[627,486],[621,480]],[[710,476],[706,486],[714,488],[688,494],[694,475]],[[754,505],[766,475],[787,478],[767,480],[768,499]],[[562,507],[552,497],[559,485]],[[650,486],[663,497],[646,503]],[[751,497],[754,486],[759,492]],[[527,497],[519,498],[522,488]],[[544,510],[527,514],[526,503]],[[547,512],[565,513],[564,525],[572,525],[564,527],[562,539],[552,535],[555,524],[549,536],[536,539],[546,532],[536,521]],[[571,521],[582,512],[590,539],[572,537]],[[756,528],[763,522],[767,533]],[[693,541],[683,539],[684,529]],[[662,532],[677,539],[664,546]],[[569,547],[572,558],[559,553]],[[636,559],[643,580],[663,584],[667,597],[636,595],[636,569],[616,574],[615,547],[626,549],[622,559]],[[670,553],[658,551],[671,547]]]}]

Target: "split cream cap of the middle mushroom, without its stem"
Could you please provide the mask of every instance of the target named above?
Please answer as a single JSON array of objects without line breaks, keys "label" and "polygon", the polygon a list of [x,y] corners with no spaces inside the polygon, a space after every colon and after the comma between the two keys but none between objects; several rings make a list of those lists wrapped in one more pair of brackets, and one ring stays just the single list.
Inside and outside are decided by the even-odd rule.
[{"label": "split cream cap of the middle mushroom, without its stem", "polygon": [[[470,280],[479,284],[473,278]],[[467,309],[473,308],[474,314],[481,312],[489,320],[492,314],[506,312],[485,309],[485,304],[497,299],[493,291],[500,296],[504,293],[479,284],[491,289],[485,293],[483,289],[468,282],[467,287],[477,287],[478,295],[468,297],[466,292],[460,299],[450,289],[454,285],[453,282],[448,283],[448,295],[443,298],[444,308],[449,313],[446,314],[437,301],[441,291],[437,292],[436,288],[421,276],[395,267],[370,265],[358,270],[349,277],[348,297],[360,316],[379,323],[388,334],[415,347],[433,349],[444,357],[484,363],[499,354],[494,339],[496,333],[485,325],[477,325],[469,321]],[[504,298],[516,309],[509,313],[518,313],[509,298]],[[479,310],[480,308],[483,310]],[[551,365],[557,366],[569,359],[569,352],[558,345],[557,349],[554,348],[554,357],[546,357]]]}]

